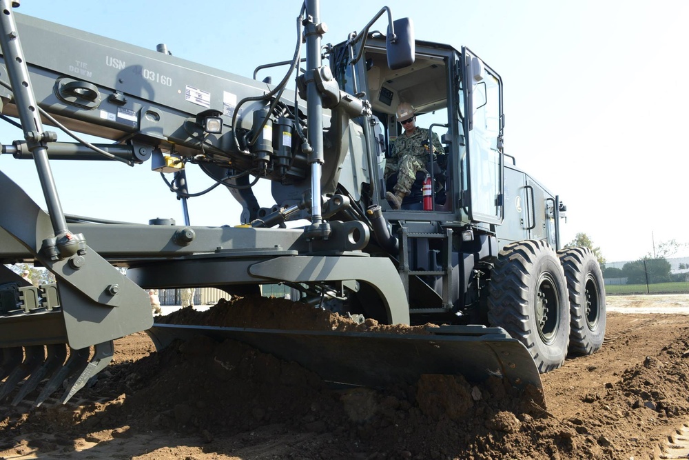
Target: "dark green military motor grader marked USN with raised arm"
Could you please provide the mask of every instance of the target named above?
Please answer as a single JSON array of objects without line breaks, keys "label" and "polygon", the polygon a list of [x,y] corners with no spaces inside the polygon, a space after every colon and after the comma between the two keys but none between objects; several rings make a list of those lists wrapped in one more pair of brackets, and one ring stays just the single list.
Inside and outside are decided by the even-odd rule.
[{"label": "dark green military motor grader marked USN with raised arm", "polygon": [[[372,386],[435,373],[540,388],[539,372],[601,346],[598,263],[587,248],[561,248],[565,208],[504,152],[502,80],[469,48],[417,41],[411,20],[393,21],[389,8],[324,46],[319,3],[307,0],[293,57],[261,66],[287,67],[272,84],[162,45],[146,50],[15,14],[16,3],[0,0],[0,98],[23,139],[4,144],[1,161],[34,161],[47,209],[21,177],[0,172],[1,398],[41,403],[66,381],[65,402],[107,366],[114,339],[143,330],[158,346],[191,333],[242,340],[326,380]],[[381,17],[386,32],[372,32]],[[88,72],[75,73],[75,61]],[[400,102],[443,151],[429,149],[393,209],[384,164],[402,133]],[[44,125],[75,141],[56,141]],[[241,203],[241,216],[227,217],[241,225],[192,226],[186,213],[183,225],[66,214],[52,161],[151,168],[185,211],[194,196],[185,171],[200,168]],[[258,205],[258,181],[270,181],[274,206]],[[50,270],[56,283],[30,286],[12,270],[19,263]],[[209,286],[245,296],[271,283],[313,308],[442,326],[392,334],[154,325],[145,293]]]}]

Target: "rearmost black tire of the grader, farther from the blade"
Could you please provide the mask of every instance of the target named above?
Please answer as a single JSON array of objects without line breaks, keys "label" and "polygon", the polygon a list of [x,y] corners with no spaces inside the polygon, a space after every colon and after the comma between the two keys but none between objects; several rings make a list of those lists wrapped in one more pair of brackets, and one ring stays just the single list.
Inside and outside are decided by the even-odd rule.
[{"label": "rearmost black tire of the grader, farther from the blade", "polygon": [[557,252],[569,290],[569,352],[583,356],[601,348],[605,339],[606,301],[603,272],[589,248]]}]

